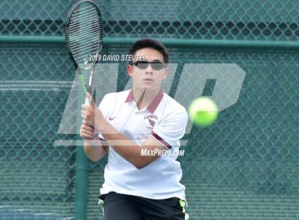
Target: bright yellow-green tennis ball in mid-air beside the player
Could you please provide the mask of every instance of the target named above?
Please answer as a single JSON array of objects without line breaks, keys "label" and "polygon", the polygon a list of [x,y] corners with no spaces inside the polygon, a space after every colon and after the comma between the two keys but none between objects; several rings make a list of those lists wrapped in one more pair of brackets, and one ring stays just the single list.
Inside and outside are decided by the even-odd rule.
[{"label": "bright yellow-green tennis ball in mid-air beside the player", "polygon": [[214,123],[218,117],[218,107],[208,97],[194,99],[188,108],[189,118],[196,126],[206,127]]}]

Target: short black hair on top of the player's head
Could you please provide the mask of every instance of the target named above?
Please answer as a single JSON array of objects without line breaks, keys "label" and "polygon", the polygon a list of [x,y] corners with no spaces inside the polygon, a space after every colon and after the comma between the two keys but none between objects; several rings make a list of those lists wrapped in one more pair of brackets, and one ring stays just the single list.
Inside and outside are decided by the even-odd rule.
[{"label": "short black hair on top of the player's head", "polygon": [[168,51],[165,46],[160,43],[158,40],[145,38],[137,40],[130,48],[129,54],[135,55],[137,50],[141,50],[143,48],[152,48],[154,50],[158,50],[159,53],[162,53],[164,57],[164,63],[168,63]]}]

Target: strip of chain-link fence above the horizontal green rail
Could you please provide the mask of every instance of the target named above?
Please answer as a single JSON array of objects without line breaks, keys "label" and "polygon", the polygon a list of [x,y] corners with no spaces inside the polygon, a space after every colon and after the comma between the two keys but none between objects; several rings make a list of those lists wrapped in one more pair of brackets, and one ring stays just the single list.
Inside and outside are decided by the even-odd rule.
[{"label": "strip of chain-link fence above the horizontal green rail", "polygon": [[[75,1],[0,2],[1,34],[61,35]],[[298,1],[95,1],[105,37],[298,40]]]}]

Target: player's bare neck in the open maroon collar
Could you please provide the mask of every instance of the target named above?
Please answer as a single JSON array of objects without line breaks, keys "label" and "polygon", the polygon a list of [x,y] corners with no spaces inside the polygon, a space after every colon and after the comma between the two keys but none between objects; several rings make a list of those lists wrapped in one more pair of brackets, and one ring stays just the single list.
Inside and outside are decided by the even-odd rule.
[{"label": "player's bare neck in the open maroon collar", "polygon": [[145,90],[139,90],[133,88],[133,97],[134,101],[137,104],[138,109],[144,109],[146,106],[152,103],[154,101],[154,98],[157,97],[157,94],[159,93],[160,89],[157,89],[155,91],[149,91],[147,89]]}]

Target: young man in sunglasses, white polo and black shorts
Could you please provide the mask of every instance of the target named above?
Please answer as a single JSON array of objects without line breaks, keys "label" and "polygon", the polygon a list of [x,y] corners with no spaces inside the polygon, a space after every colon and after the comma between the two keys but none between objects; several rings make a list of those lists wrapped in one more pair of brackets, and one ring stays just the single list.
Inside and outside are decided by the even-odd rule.
[{"label": "young man in sunglasses, white polo and black shorts", "polygon": [[[132,89],[106,94],[97,108],[83,104],[80,136],[88,158],[109,152],[100,189],[106,220],[187,219],[185,187],[176,160],[188,115],[162,92],[168,53],[157,40],[142,39],[130,48],[127,65]],[[144,60],[141,60],[143,58]]]}]

